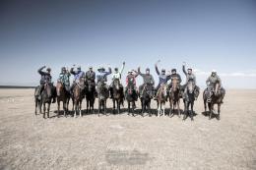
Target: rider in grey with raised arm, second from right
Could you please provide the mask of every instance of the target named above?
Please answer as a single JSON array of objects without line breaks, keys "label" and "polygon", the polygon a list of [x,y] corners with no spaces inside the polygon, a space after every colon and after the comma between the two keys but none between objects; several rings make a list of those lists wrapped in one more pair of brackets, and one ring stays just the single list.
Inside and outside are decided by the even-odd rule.
[{"label": "rider in grey with raised arm, second from right", "polygon": [[[192,73],[192,68],[188,68],[187,71],[185,69],[186,63],[184,62],[182,65],[182,70],[183,73],[186,76],[186,84],[183,86],[184,88],[184,94],[183,94],[183,99],[185,98],[185,94],[187,92],[187,84],[188,82],[192,82],[192,84],[195,86],[195,89],[199,91],[199,87],[196,85],[196,76]],[[195,100],[197,99],[198,96],[195,96]]]}]

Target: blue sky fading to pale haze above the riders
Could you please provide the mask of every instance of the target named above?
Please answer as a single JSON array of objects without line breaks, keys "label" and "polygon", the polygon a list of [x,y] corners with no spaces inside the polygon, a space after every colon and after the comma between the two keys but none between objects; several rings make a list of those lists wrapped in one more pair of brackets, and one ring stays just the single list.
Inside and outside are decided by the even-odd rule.
[{"label": "blue sky fading to pale haze above the riders", "polygon": [[157,80],[159,59],[183,79],[185,61],[200,86],[216,69],[225,87],[256,88],[256,1],[0,1],[0,85],[36,85],[43,65],[56,81],[62,66],[123,61]]}]

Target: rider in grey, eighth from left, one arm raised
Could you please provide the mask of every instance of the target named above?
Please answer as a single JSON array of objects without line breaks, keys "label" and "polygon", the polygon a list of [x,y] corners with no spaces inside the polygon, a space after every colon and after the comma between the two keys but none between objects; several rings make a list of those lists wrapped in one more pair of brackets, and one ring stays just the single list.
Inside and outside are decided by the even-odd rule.
[{"label": "rider in grey, eighth from left, one arm raised", "polygon": [[139,67],[138,74],[143,78],[143,85],[139,86],[139,93],[140,93],[140,96],[142,97],[143,89],[144,89],[145,85],[152,85],[152,87],[154,89],[155,81],[154,81],[153,76],[150,74],[149,68],[146,69],[146,74],[142,74],[141,68]]}]

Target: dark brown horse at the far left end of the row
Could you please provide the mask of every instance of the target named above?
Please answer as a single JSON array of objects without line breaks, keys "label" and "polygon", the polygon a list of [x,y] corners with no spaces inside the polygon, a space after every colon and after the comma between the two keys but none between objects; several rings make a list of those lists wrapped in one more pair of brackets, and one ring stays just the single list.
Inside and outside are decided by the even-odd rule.
[{"label": "dark brown horse at the far left end of the row", "polygon": [[[54,90],[54,86],[51,85],[50,83],[45,83],[43,85],[43,90],[41,92],[41,103],[43,105],[43,118],[44,119],[45,119],[46,109],[47,109],[47,118],[49,118],[50,103],[54,97],[53,90]],[[46,108],[46,104],[47,104],[47,108]]]}]

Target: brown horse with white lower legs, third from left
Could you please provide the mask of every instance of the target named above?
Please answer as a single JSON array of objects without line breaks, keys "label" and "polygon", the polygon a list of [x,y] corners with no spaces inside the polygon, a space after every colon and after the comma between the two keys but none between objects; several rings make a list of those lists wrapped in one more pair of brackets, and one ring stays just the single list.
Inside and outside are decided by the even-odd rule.
[{"label": "brown horse with white lower legs, third from left", "polygon": [[85,79],[80,78],[79,82],[74,83],[73,88],[73,105],[75,106],[74,118],[77,117],[77,112],[79,112],[80,117],[82,117],[82,101],[85,98]]}]

